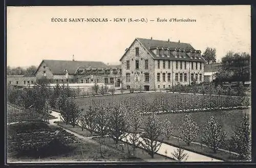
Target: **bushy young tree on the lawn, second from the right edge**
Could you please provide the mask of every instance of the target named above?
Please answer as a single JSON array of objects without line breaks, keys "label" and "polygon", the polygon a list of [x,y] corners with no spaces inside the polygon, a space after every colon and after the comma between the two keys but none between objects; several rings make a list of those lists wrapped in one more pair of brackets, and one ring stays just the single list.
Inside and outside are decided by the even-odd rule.
[{"label": "bushy young tree on the lawn, second from the right edge", "polygon": [[204,130],[202,142],[216,153],[224,143],[226,133],[221,130],[221,124],[212,115],[208,119]]}]

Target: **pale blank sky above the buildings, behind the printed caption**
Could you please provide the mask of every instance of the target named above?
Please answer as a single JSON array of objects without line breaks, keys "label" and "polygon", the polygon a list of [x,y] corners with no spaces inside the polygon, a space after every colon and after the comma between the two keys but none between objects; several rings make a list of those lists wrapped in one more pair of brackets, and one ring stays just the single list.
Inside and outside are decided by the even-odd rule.
[{"label": "pale blank sky above the buildings, behind the printed caption", "polygon": [[[55,18],[67,22],[52,21]],[[107,18],[108,22],[70,18]],[[114,18],[125,21],[114,22]],[[170,18],[196,22],[170,22]],[[251,53],[250,20],[249,5],[7,7],[7,65],[38,66],[43,59],[72,60],[73,55],[77,61],[118,64],[136,37],[180,40],[202,53],[214,47],[221,60],[230,50]]]}]

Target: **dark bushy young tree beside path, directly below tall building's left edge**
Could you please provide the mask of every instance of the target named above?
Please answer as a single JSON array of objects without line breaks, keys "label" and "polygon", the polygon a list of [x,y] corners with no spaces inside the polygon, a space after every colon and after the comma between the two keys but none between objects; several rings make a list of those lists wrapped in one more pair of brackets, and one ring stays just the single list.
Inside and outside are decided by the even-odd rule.
[{"label": "dark bushy young tree beside path, directly below tall building's left edge", "polygon": [[127,109],[120,104],[108,108],[107,112],[109,113],[109,136],[117,145],[119,140],[127,136],[126,132],[129,129],[126,116]]}]

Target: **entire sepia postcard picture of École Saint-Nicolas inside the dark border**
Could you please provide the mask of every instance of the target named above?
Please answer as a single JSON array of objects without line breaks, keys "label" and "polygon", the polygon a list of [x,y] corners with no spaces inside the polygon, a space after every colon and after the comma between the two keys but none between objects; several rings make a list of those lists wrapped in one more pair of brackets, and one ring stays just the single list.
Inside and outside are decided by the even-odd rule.
[{"label": "entire sepia postcard picture of \u00c9cole Saint-Nicolas inside the dark border", "polygon": [[6,8],[7,163],[251,159],[251,6]]}]

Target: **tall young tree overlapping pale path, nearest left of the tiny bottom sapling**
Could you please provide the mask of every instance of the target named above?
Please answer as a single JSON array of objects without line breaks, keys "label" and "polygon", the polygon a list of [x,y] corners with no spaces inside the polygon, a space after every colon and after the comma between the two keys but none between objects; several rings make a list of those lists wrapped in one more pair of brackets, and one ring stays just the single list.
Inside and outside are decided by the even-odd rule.
[{"label": "tall young tree overlapping pale path, nearest left of the tiny bottom sapling", "polygon": [[158,141],[158,137],[161,134],[162,124],[159,118],[155,114],[147,117],[145,132],[141,137],[143,141],[140,142],[142,147],[148,154],[154,158],[154,154],[160,149],[162,143]]}]

